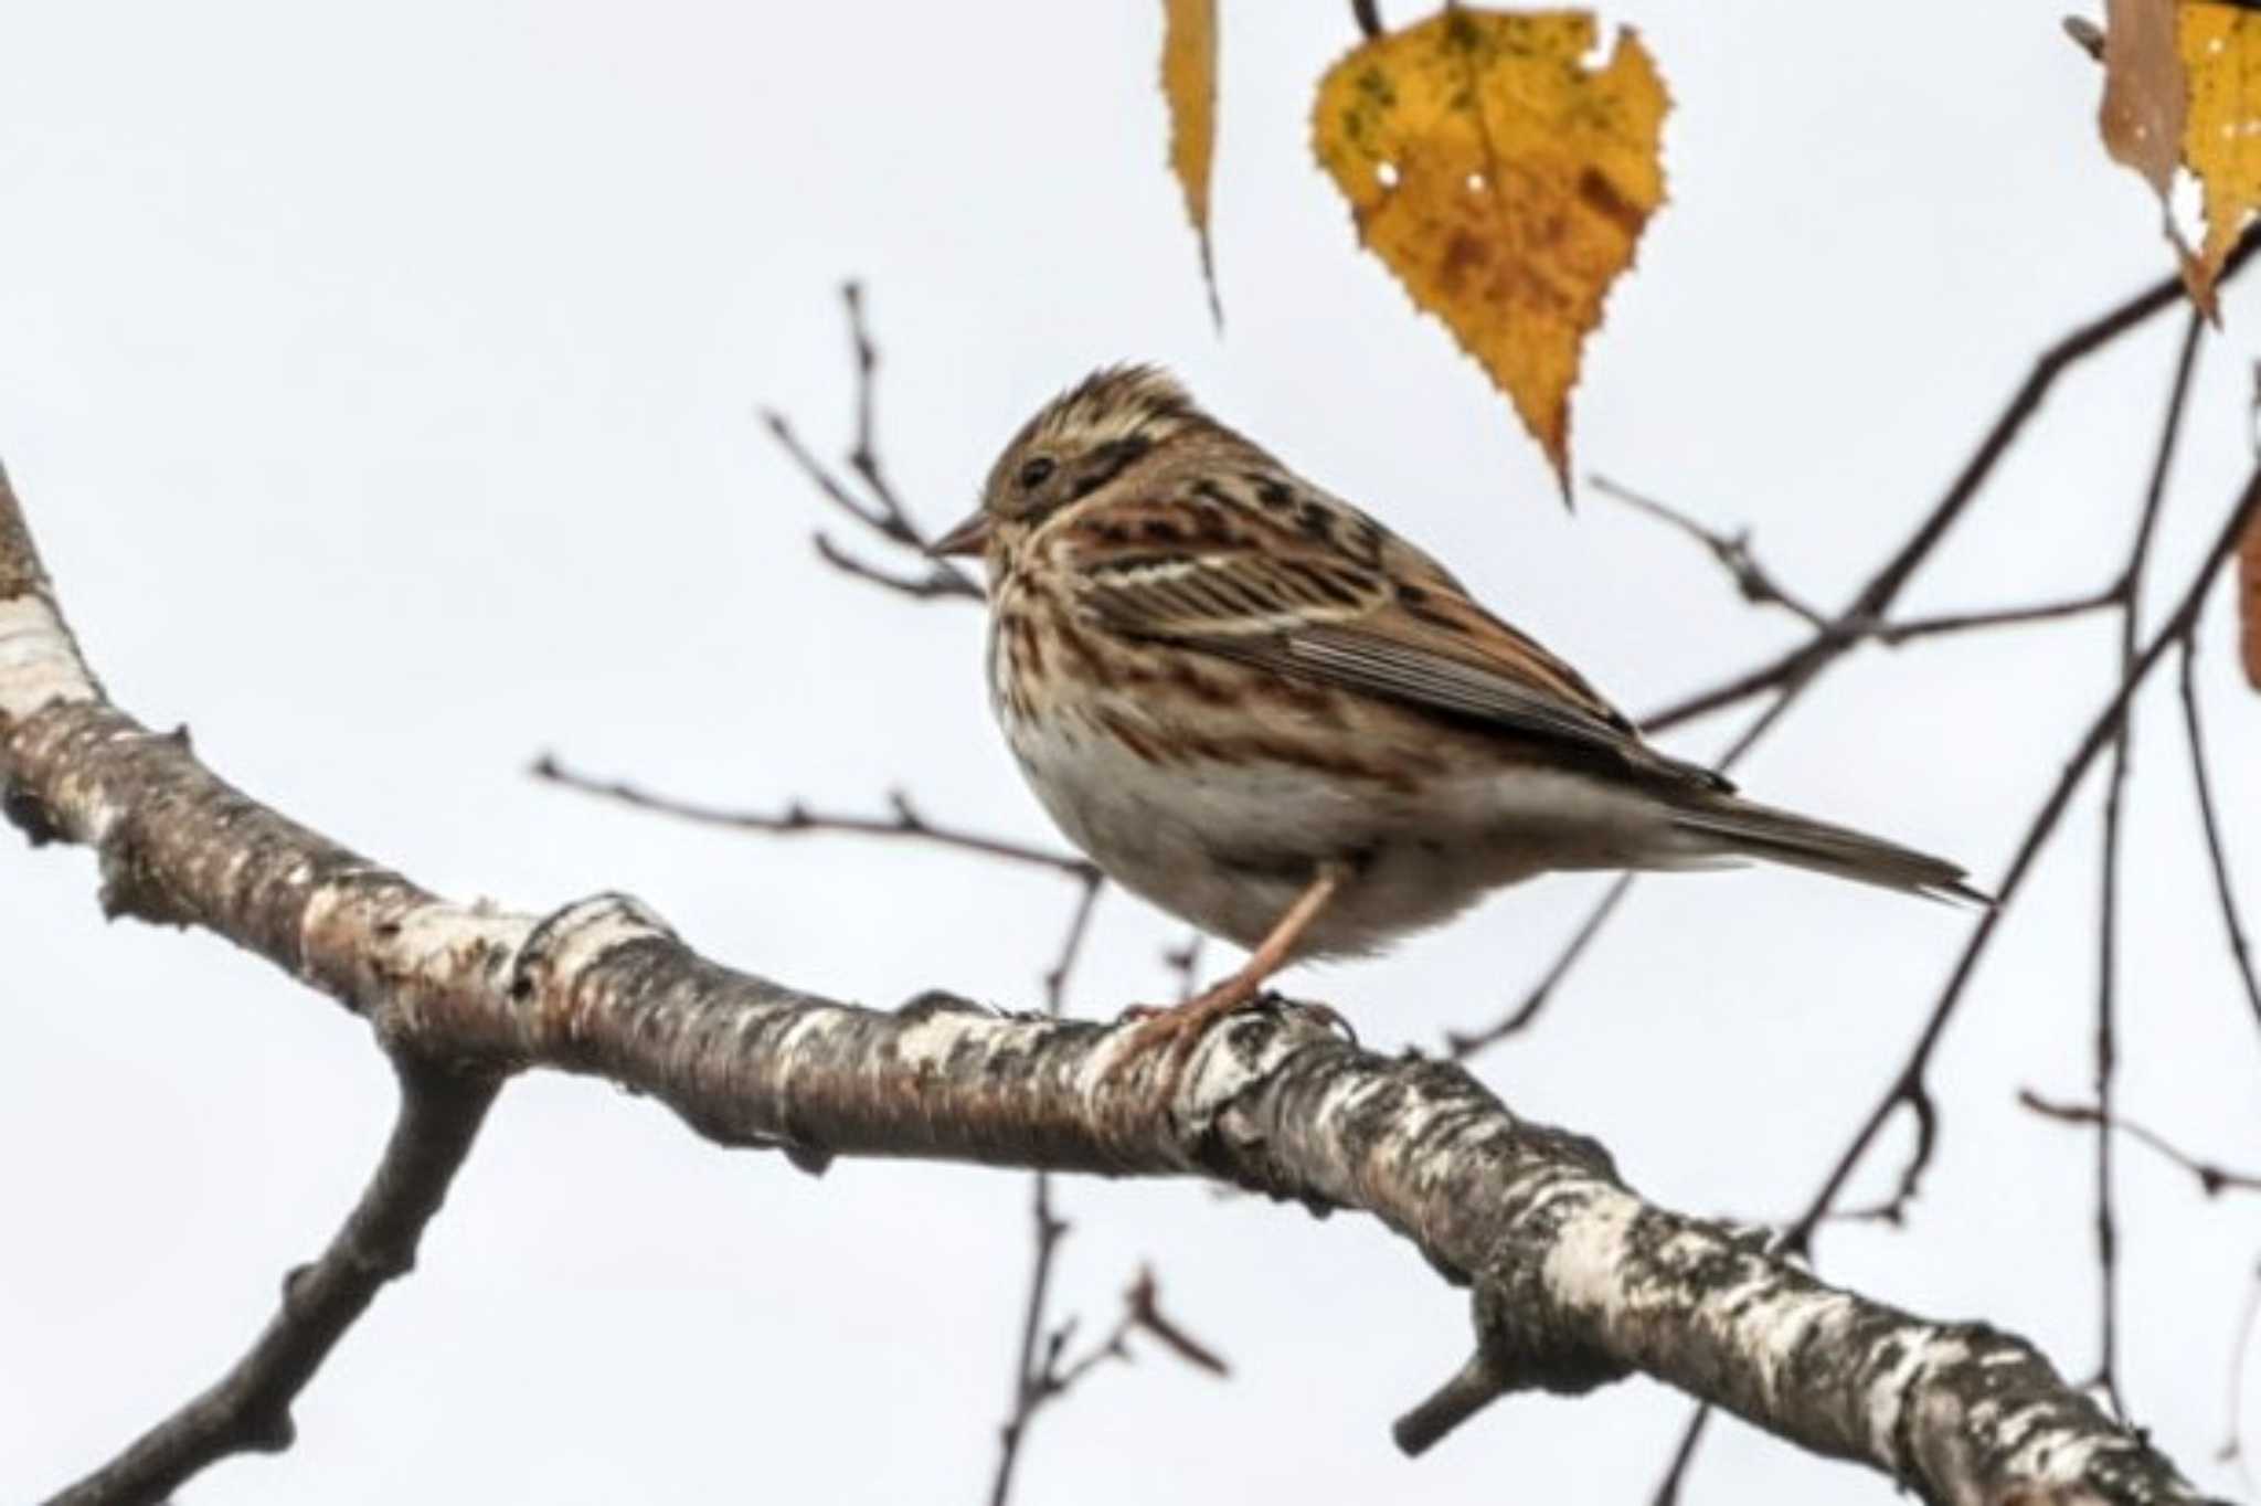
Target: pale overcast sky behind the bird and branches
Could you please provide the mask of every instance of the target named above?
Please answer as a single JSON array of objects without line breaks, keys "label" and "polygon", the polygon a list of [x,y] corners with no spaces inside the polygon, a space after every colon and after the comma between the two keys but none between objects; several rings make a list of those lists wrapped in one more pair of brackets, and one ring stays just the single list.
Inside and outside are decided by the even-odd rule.
[{"label": "pale overcast sky behind the bird and branches", "polygon": [[[1160,360],[1630,710],[1791,642],[1653,522],[1594,495],[1565,516],[1506,403],[1357,249],[1307,149],[1348,7],[1223,11],[1219,339],[1162,172],[1149,2],[11,7],[0,457],[97,672],[249,791],[452,895],[626,889],[708,954],[834,997],[1033,1004],[1074,898],[1058,880],[687,830],[525,776],[552,748],[683,796],[859,812],[900,785],[1051,841],[990,726],[979,615],[821,568],[830,518],[755,423],[776,405],[828,452],[846,439],[843,276],[868,280],[884,455],[929,525],[1054,389]],[[1671,204],[1587,350],[1576,464],[1752,527],[1786,579],[1845,599],[2033,355],[2166,267],[2060,11],[1628,5],[1675,99]],[[2256,314],[2229,296],[2207,348],[2159,599],[2250,464]],[[2110,579],[2177,319],[2051,398],[1911,611]],[[2202,676],[2261,907],[2261,703],[2229,629],[2225,597]],[[1992,880],[2112,654],[2100,620],[1868,651],[1743,782]],[[2261,1031],[2159,692],[2130,796],[2121,1094],[2252,1167]],[[1736,726],[1666,744],[1705,758]],[[2012,1094],[2089,1076],[2094,807],[2096,785],[1944,1042],[1911,1223],[1820,1241],[1831,1280],[2019,1330],[2071,1375],[2096,1361],[2089,1144]],[[1372,1045],[1436,1045],[1504,1011],[1596,884],[1531,884],[1289,986]],[[215,1377],[391,1113],[337,1006],[208,936],[106,927],[93,891],[86,852],[0,843],[0,1499],[59,1488]],[[1811,1196],[1972,925],[1757,871],[1644,884],[1621,920],[1479,1070],[1605,1140],[1651,1198],[1750,1219]],[[1110,893],[1069,1006],[1158,997],[1178,938]],[[2125,1395],[2234,1492],[2214,1452],[2261,1201],[2204,1203],[2139,1146],[2121,1167]],[[1198,1185],[1072,1180],[1060,1203],[1060,1309],[1103,1325],[1153,1262],[1235,1377],[1158,1354],[1097,1373],[1033,1431],[1022,1501],[1644,1501],[1687,1413],[1646,1382],[1515,1400],[1406,1463],[1388,1420],[1467,1345],[1409,1246]],[[1022,1176],[812,1180],[536,1076],[416,1275],[301,1400],[298,1445],[185,1499],[981,1499],[1026,1260]],[[2261,1416],[2245,1429],[2261,1447]],[[1723,1425],[1684,1499],[1895,1497]]]}]

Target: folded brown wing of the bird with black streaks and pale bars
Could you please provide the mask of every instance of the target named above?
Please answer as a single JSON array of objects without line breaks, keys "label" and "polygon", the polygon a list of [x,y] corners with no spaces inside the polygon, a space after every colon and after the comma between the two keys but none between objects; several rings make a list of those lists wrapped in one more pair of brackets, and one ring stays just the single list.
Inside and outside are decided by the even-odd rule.
[{"label": "folded brown wing of the bird with black streaks and pale bars", "polygon": [[1103,626],[1671,785],[1727,787],[1648,748],[1576,669],[1350,504],[1309,486],[1271,509],[1216,484],[1201,493],[1078,540],[1076,595]]}]

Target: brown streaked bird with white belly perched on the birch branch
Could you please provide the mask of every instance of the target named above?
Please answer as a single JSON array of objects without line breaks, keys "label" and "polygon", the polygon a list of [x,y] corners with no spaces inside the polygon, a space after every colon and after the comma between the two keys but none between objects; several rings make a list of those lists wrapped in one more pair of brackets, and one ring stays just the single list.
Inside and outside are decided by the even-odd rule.
[{"label": "brown streaked bird with white belly perched on the birch branch", "polygon": [[1377,952],[1540,873],[1766,859],[1990,902],[1958,864],[1648,746],[1443,563],[1158,366],[1040,407],[929,552],[986,568],[990,706],[1060,832],[1248,947],[1144,1011],[1133,1058],[1183,1070],[1280,968]]}]

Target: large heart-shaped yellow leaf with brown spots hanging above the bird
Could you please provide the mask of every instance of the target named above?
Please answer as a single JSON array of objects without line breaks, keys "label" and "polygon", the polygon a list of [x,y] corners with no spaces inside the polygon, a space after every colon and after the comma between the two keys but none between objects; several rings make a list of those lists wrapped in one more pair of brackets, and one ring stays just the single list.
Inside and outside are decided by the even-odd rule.
[{"label": "large heart-shaped yellow leaf with brown spots hanging above the bird", "polygon": [[1569,497],[1569,389],[1664,201],[1664,81],[1630,27],[1587,70],[1587,11],[1447,9],[1318,84],[1314,149],[1359,237],[1508,393]]}]

